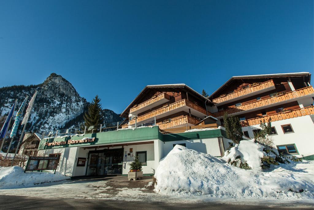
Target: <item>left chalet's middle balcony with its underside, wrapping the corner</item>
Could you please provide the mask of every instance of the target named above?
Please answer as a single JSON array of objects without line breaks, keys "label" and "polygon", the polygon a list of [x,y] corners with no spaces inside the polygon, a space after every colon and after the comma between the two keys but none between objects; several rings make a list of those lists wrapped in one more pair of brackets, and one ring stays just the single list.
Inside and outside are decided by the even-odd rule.
[{"label": "left chalet's middle balcony with its underside, wrapping the corner", "polygon": [[[151,112],[144,114],[142,116],[139,116],[137,118],[134,118],[134,119],[129,121],[129,125],[135,124],[135,119],[137,119],[137,123],[138,123],[138,122],[152,119],[156,116],[161,118],[163,116],[167,116],[168,114],[171,114],[171,112],[174,113],[175,110],[177,110],[177,111],[184,110],[185,107],[191,108],[192,109],[191,113],[195,116],[201,116],[201,117],[207,116],[207,112],[205,109],[192,103],[191,101],[188,101],[187,99],[183,99],[183,100],[177,101],[175,103],[172,103],[170,105],[164,106],[164,107],[156,109],[154,111],[151,111]],[[211,115],[211,113],[208,112],[208,115]]]}]

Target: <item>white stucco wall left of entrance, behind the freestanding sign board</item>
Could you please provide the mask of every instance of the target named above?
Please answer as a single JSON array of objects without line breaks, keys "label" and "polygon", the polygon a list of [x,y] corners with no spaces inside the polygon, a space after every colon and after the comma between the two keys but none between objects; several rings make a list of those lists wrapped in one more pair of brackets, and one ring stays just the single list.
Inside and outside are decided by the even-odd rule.
[{"label": "white stucco wall left of entrance, behind the freestanding sign board", "polygon": [[49,156],[50,154],[61,153],[57,171],[66,176],[73,176],[73,169],[75,158],[77,155],[77,150],[78,147],[38,150],[37,156]]}]

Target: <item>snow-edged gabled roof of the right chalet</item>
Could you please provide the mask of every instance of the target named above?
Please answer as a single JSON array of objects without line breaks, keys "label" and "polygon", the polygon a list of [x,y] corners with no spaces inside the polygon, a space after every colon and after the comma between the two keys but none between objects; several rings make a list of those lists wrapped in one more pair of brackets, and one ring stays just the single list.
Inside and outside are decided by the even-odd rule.
[{"label": "snow-edged gabled roof of the right chalet", "polygon": [[309,72],[295,72],[295,73],[281,73],[281,74],[259,74],[259,75],[247,75],[247,76],[233,76],[231,77],[225,84],[220,86],[214,93],[212,93],[208,98],[211,98],[214,94],[216,94],[223,87],[228,85],[233,80],[238,79],[263,79],[263,78],[282,78],[282,77],[306,77],[307,82],[311,81],[311,74]]}]

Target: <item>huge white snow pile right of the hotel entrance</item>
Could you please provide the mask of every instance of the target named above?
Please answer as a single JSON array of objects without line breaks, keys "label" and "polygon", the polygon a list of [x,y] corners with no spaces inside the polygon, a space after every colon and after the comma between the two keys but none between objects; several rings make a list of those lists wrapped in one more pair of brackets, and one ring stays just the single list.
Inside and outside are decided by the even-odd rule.
[{"label": "huge white snow pile right of the hotel entrance", "polygon": [[[313,162],[281,164],[273,171],[245,170],[176,145],[155,171],[155,192],[171,196],[313,199]],[[297,193],[299,190],[302,193]]]}]

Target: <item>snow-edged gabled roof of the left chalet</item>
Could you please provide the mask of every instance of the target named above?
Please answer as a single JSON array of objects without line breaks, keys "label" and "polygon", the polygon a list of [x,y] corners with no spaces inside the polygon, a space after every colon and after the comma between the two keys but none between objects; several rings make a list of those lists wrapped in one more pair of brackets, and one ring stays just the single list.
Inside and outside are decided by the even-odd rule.
[{"label": "snow-edged gabled roof of the left chalet", "polygon": [[194,93],[198,97],[208,101],[210,104],[213,104],[211,100],[208,98],[204,97],[202,94],[199,94],[197,91],[194,89],[190,88],[186,84],[165,84],[165,85],[147,85],[139,94],[136,96],[136,98],[127,106],[127,108],[121,113],[120,116],[123,116],[127,110],[131,108],[133,103],[147,90],[147,89],[155,89],[155,88],[186,88],[188,91]]}]

